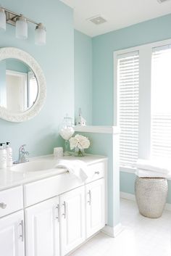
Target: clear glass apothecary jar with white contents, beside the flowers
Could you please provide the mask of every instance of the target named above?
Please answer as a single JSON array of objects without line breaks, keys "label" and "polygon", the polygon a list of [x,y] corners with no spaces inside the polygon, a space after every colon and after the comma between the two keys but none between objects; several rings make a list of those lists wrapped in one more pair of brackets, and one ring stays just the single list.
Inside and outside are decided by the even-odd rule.
[{"label": "clear glass apothecary jar with white contents, beside the flowers", "polygon": [[72,117],[64,117],[62,124],[59,127],[59,134],[64,139],[64,156],[70,155],[70,142],[69,139],[75,133]]}]

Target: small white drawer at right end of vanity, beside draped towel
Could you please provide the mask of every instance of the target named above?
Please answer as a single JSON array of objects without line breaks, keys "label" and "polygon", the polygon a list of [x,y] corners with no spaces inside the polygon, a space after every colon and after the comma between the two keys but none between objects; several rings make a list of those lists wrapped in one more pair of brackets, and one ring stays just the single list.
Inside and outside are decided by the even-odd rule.
[{"label": "small white drawer at right end of vanity, beside draped towel", "polygon": [[99,178],[103,178],[105,175],[106,166],[107,163],[105,161],[89,165],[87,171],[88,178],[86,179],[86,183],[96,181]]}]

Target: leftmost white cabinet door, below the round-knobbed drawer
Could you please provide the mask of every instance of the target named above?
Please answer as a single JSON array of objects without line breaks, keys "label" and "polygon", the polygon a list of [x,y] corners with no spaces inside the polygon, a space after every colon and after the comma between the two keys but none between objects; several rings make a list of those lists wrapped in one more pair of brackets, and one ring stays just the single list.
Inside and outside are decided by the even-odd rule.
[{"label": "leftmost white cabinet door, below the round-knobbed drawer", "polygon": [[24,214],[13,213],[0,219],[0,255],[24,256]]}]

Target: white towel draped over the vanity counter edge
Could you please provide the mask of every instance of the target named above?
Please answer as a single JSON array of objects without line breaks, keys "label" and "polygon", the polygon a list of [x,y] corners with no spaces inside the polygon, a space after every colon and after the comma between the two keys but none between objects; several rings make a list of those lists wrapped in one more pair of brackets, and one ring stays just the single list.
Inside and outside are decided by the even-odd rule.
[{"label": "white towel draped over the vanity counter edge", "polygon": [[84,182],[88,178],[86,174],[87,165],[81,160],[58,160],[56,168],[66,168],[69,173]]}]

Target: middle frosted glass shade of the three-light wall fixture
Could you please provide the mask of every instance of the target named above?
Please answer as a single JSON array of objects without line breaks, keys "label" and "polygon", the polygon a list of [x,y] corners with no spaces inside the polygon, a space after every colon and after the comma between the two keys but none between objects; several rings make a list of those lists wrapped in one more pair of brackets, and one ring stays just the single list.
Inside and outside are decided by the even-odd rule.
[{"label": "middle frosted glass shade of the three-light wall fixture", "polygon": [[23,15],[16,21],[15,36],[20,39],[28,38],[28,22]]}]

